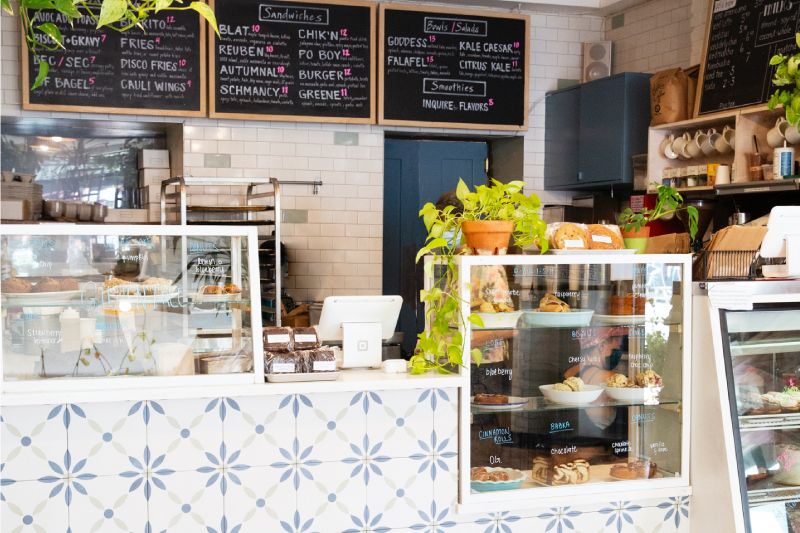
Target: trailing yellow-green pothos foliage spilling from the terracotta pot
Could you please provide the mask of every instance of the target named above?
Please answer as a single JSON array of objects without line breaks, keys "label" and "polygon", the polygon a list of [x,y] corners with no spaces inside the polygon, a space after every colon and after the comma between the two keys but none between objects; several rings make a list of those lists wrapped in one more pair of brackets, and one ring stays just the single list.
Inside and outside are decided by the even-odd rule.
[{"label": "trailing yellow-green pothos foliage spilling from the terracotta pot", "polygon": [[[428,254],[432,256],[432,260],[425,264],[425,274],[434,278],[435,273],[436,282],[430,289],[420,291],[420,301],[426,304],[426,328],[417,335],[417,346],[409,361],[412,374],[429,370],[448,373],[453,366],[463,365],[464,337],[461,331],[465,330],[467,321],[483,327],[483,321],[476,313],[466,316],[462,313],[465,302],[460,296],[461,282],[455,261],[455,257],[462,253],[462,222],[509,220],[514,222],[512,237],[515,245],[527,246],[538,242],[543,252],[547,250],[544,236],[547,225],[539,217],[539,198],[533,194],[525,195],[523,187],[521,181],[502,183],[492,179],[491,185],[479,185],[470,191],[459,179],[456,197],[461,205],[437,208],[428,202],[420,210],[419,215],[428,233],[416,261]],[[473,348],[470,357],[480,364],[481,351]]]}]

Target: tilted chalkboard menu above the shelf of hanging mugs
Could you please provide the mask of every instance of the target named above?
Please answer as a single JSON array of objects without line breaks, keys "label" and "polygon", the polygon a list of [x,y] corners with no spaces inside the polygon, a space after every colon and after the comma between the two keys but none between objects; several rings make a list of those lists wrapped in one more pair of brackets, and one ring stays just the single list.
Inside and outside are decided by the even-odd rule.
[{"label": "tilted chalkboard menu above the shelf of hanging mugs", "polygon": [[800,2],[714,0],[698,83],[695,114],[766,102],[776,53],[794,53]]}]

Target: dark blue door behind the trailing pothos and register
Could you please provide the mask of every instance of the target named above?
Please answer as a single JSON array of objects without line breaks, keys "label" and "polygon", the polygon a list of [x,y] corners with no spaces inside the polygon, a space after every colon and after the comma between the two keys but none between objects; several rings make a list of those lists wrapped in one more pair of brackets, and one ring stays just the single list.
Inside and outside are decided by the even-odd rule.
[{"label": "dark blue door behind the trailing pothos and register", "polygon": [[425,241],[419,210],[455,189],[458,179],[486,183],[485,142],[386,139],[383,162],[383,293],[403,297],[398,330],[410,354],[424,327],[419,305],[422,265],[415,265]]}]

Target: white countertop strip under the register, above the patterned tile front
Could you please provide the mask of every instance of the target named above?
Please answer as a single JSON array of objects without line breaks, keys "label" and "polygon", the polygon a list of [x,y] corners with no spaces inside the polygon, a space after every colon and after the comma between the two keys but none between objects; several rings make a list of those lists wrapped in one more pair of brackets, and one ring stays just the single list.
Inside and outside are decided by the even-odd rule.
[{"label": "white countertop strip under the register, above the patterned tile front", "polygon": [[[188,376],[182,376],[189,378]],[[464,385],[458,374],[428,373],[387,374],[381,370],[343,370],[335,381],[297,383],[220,383],[217,376],[191,376],[192,381],[175,378],[72,378],[24,382],[25,391],[4,391],[0,405],[47,405],[60,403],[92,403],[140,401],[150,399],[216,398],[223,396],[271,396],[325,392],[390,391],[431,388],[453,388]],[[75,389],[83,381],[84,390]],[[17,382],[23,383],[23,382]],[[17,384],[15,383],[15,384]],[[41,388],[36,388],[41,383]],[[181,384],[183,383],[183,384]],[[64,384],[61,388],[58,385]],[[66,385],[70,385],[66,388]]]}]

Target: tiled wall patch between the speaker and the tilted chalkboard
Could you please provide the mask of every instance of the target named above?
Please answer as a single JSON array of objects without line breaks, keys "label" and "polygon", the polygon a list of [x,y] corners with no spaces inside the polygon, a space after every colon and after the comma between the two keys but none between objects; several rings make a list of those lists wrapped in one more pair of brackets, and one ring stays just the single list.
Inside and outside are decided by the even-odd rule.
[{"label": "tiled wall patch between the speaker and the tilted chalkboard", "polygon": [[615,13],[605,19],[605,39],[614,43],[612,72],[658,72],[700,62],[709,0],[651,0],[622,12],[624,25],[612,29]]}]

